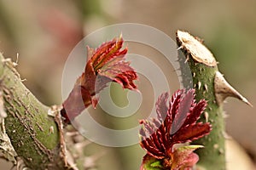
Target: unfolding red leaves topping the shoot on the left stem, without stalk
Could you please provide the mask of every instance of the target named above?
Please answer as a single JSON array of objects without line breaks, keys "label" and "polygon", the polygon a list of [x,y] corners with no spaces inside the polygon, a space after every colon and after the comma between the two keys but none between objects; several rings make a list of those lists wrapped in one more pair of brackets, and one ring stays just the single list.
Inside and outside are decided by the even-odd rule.
[{"label": "unfolding red leaves topping the shoot on the left stem, without stalk", "polygon": [[137,73],[131,68],[130,63],[125,61],[127,48],[121,50],[123,42],[120,37],[102,44],[94,52],[89,49],[91,56],[85,67],[84,86],[89,88],[90,92],[95,92],[97,87],[98,93],[112,81],[118,82],[123,88],[137,89],[133,82],[137,80]]}]

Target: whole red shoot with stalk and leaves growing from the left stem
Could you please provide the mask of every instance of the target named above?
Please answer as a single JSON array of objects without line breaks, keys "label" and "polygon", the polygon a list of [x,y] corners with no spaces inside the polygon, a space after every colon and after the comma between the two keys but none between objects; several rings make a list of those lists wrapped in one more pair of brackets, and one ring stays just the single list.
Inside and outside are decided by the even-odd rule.
[{"label": "whole red shoot with stalk and leaves growing from the left stem", "polygon": [[137,90],[134,81],[136,71],[125,61],[127,48],[123,47],[123,38],[114,38],[99,48],[87,48],[88,61],[84,72],[75,82],[72,92],[63,102],[61,115],[70,122],[89,105],[97,104],[96,94],[107,87],[108,82],[117,82],[123,88]]}]

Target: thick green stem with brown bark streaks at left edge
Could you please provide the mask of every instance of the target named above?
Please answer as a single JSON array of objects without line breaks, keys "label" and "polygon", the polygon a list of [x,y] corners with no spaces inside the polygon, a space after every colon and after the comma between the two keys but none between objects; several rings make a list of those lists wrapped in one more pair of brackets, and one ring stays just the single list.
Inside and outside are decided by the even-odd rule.
[{"label": "thick green stem with brown bark streaks at left edge", "polygon": [[60,156],[60,135],[49,107],[22,84],[14,65],[0,54],[6,133],[19,157],[32,169],[64,169]]}]

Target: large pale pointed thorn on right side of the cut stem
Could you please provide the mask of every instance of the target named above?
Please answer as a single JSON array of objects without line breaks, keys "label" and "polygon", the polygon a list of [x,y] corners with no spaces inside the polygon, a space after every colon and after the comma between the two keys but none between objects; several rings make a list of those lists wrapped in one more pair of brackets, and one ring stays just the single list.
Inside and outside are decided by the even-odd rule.
[{"label": "large pale pointed thorn on right side of the cut stem", "polygon": [[234,97],[236,99],[240,99],[242,102],[253,107],[253,105],[245,97],[243,97],[239,92],[237,92],[236,89],[233,88],[229,84],[229,82],[227,82],[224,79],[223,75],[219,71],[216,71],[214,77],[214,90],[218,105],[223,104],[224,99],[226,99],[227,97]]}]

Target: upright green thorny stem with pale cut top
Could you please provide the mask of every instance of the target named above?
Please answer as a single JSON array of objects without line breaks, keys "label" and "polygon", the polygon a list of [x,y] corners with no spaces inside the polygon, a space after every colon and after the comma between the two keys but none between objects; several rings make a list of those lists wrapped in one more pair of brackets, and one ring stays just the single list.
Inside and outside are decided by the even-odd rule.
[{"label": "upright green thorny stem with pale cut top", "polygon": [[[212,125],[212,132],[209,135],[194,142],[205,146],[204,149],[197,150],[200,156],[198,167],[207,170],[224,170],[224,113],[222,106],[217,104],[214,91],[214,80],[218,71],[217,62],[211,52],[187,32],[177,31],[177,46],[181,47],[179,50],[180,64],[184,65],[186,62],[189,64],[193,88],[195,88],[195,99],[197,101],[207,100],[207,109],[199,122],[210,122]],[[186,75],[188,71],[184,71],[183,68],[181,66],[184,83],[188,83]]]}]

